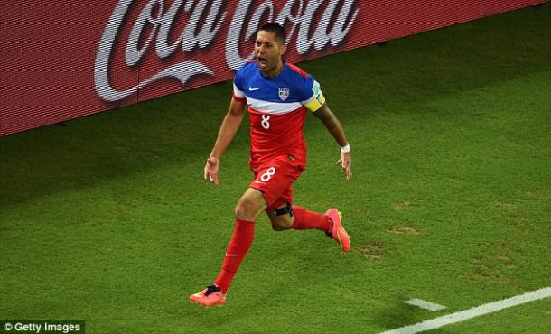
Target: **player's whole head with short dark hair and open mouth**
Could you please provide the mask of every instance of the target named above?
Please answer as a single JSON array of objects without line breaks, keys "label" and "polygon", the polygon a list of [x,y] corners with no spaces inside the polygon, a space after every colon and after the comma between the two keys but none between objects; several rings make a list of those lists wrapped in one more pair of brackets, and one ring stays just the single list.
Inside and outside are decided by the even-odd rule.
[{"label": "player's whole head with short dark hair and open mouth", "polygon": [[255,58],[258,69],[268,77],[279,74],[283,68],[285,38],[285,29],[277,23],[266,23],[257,31]]}]

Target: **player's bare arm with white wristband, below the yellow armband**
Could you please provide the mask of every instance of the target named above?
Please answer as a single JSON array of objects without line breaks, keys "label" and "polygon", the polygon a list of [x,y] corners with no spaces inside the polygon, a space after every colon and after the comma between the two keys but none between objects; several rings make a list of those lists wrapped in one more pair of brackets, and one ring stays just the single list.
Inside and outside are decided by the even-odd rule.
[{"label": "player's bare arm with white wristband, below the yellow armband", "polygon": [[327,130],[332,134],[333,138],[339,146],[341,146],[341,159],[337,161],[337,164],[341,164],[342,172],[346,174],[346,180],[350,180],[352,177],[352,154],[350,152],[350,144],[346,139],[344,134],[344,129],[342,128],[341,122],[329,107],[327,103],[323,101],[322,107],[319,107],[313,112],[313,115],[318,117]]}]

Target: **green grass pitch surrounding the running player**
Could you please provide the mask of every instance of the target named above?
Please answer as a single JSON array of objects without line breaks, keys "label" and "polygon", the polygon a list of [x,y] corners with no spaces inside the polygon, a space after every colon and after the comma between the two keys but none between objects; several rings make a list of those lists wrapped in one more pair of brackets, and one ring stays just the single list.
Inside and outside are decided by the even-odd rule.
[{"label": "green grass pitch surrounding the running player", "polygon": [[[339,207],[352,252],[259,218],[224,308],[187,298],[218,274],[251,177],[244,124],[219,188],[202,180],[230,82],[1,138],[0,319],[376,333],[551,286],[549,22],[544,5],[301,64],[345,126],[354,177],[309,117],[295,202]],[[432,332],[544,333],[550,310]]]}]

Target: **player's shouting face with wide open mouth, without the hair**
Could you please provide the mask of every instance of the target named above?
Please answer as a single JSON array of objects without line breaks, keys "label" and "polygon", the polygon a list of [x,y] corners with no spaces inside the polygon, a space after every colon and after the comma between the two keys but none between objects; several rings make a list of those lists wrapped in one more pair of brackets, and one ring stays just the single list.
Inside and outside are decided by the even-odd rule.
[{"label": "player's shouting face with wide open mouth, without the hair", "polygon": [[280,43],[275,38],[274,32],[259,31],[255,43],[255,58],[258,69],[266,75],[273,77],[283,68],[282,56],[286,51],[285,43]]}]

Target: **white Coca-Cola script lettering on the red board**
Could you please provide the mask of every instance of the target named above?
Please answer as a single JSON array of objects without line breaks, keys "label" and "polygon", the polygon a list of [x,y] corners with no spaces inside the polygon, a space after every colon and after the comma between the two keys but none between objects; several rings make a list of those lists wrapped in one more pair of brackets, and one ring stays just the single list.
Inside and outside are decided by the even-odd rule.
[{"label": "white Coca-Cola script lettering on the red board", "polygon": [[[123,26],[132,26],[124,57],[127,68],[139,67],[146,52],[153,47],[159,59],[166,59],[175,52],[182,52],[185,56],[194,50],[205,49],[221,39],[225,41],[226,65],[235,71],[252,58],[252,51],[243,57],[239,45],[243,36],[250,39],[254,35],[264,23],[261,21],[285,25],[287,39],[296,39],[290,47],[294,46],[296,53],[303,55],[312,48],[321,51],[330,45],[339,45],[359,14],[354,0],[287,0],[279,13],[275,13],[274,1],[265,0],[257,5],[258,2],[253,0],[239,0],[234,2],[237,5],[233,14],[224,10],[227,4],[222,0],[173,0],[172,5],[166,5],[164,0],[148,0],[135,22],[128,24],[125,22],[127,13],[138,1],[118,1],[99,42],[94,81],[98,96],[108,102],[128,97],[158,79],[172,77],[185,85],[193,76],[215,75],[210,64],[204,60],[184,60],[140,80],[134,87],[122,90],[113,88],[109,81],[113,74],[110,73],[110,63],[116,48],[123,46],[121,42],[116,42]],[[253,4],[256,6],[253,7]],[[187,22],[179,37],[170,43],[168,35],[177,23],[179,11],[186,14]]]}]

